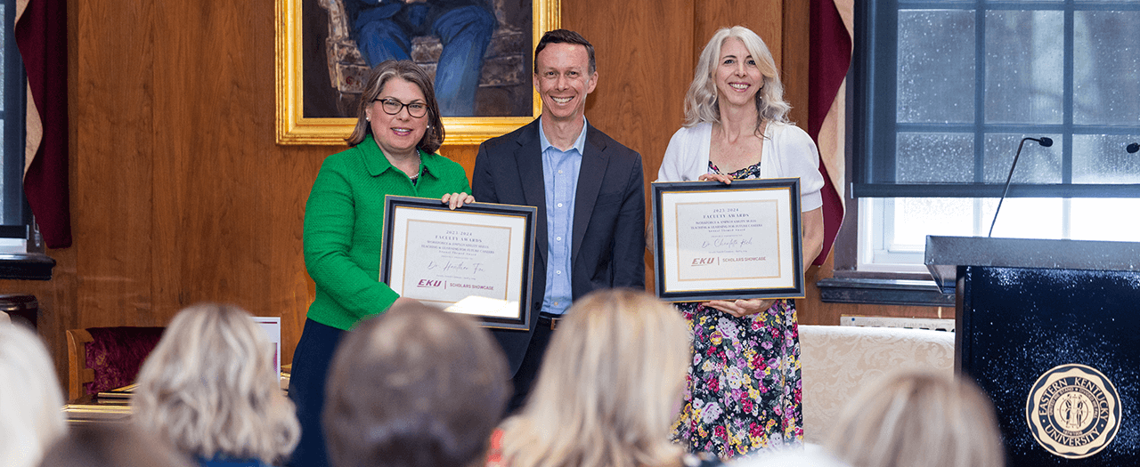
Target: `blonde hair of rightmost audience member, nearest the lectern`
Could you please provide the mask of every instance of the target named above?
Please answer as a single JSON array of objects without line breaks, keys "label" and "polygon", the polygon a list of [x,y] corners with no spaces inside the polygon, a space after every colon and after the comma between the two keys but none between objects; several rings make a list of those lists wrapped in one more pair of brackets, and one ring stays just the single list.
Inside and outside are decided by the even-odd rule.
[{"label": "blonde hair of rightmost audience member, nearest the lectern", "polygon": [[990,399],[968,378],[901,371],[863,388],[828,449],[853,467],[990,467],[1004,454]]}]

